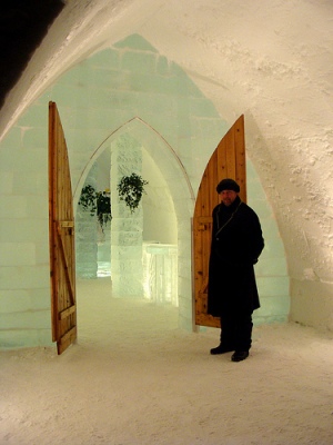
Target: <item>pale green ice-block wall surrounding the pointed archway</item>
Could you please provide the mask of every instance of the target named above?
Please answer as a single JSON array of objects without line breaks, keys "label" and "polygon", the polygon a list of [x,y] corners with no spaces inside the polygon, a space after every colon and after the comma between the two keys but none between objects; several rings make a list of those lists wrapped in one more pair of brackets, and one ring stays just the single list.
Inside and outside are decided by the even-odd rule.
[{"label": "pale green ice-block wall surrounding the pointed archway", "polygon": [[[24,257],[13,253],[12,261],[16,267],[3,265],[2,273],[7,276],[7,281],[2,281],[6,283],[2,285],[6,314],[1,326],[7,327],[3,330],[7,344],[39,344],[28,337],[22,343],[17,339],[12,328],[18,329],[17,335],[20,337],[20,330],[28,329],[26,319],[32,330],[42,329],[43,324],[49,325],[47,105],[50,99],[59,106],[77,200],[87,175],[103,151],[103,146],[112,147],[125,136],[130,135],[139,141],[159,166],[169,186],[178,221],[180,326],[190,328],[190,221],[194,206],[193,190],[198,189],[205,165],[229,126],[218,115],[212,102],[176,65],[160,56],[141,37],[132,36],[112,49],[95,53],[60,78],[28,110],[1,145],[0,165],[3,179],[8,178],[2,204],[3,208],[9,208],[8,214],[2,215],[2,248],[6,254],[6,241],[17,243],[19,235],[20,243],[31,238],[31,248],[39,248],[41,256],[30,265]],[[27,166],[29,171],[26,170]],[[18,184],[22,172],[29,181]],[[256,320],[284,320],[289,312],[289,279],[283,244],[272,209],[250,160],[249,196],[253,196],[251,204],[262,219],[266,240],[266,248],[258,266],[263,307],[258,313]],[[30,205],[27,209],[27,202],[31,199],[36,205]],[[11,200],[14,204],[10,204]],[[33,236],[30,235],[29,238],[36,219],[43,226],[43,230],[33,230]],[[21,247],[20,244],[18,247]],[[3,258],[10,257],[4,255]],[[29,279],[21,283],[17,279],[17,274],[22,271]],[[30,281],[32,274],[36,275],[36,283]],[[28,289],[22,310],[16,300],[21,288]],[[40,317],[42,315],[40,326],[34,323],[38,308],[29,299],[29,295],[34,296],[38,291],[42,295],[46,308],[39,314]],[[43,344],[44,340],[40,342]]]}]

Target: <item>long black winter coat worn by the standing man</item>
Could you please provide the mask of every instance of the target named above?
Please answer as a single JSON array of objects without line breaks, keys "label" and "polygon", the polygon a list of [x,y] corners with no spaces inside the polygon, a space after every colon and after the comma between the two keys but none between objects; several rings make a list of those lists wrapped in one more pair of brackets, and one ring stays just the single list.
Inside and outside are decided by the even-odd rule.
[{"label": "long black winter coat worn by the standing man", "polygon": [[264,247],[254,210],[239,197],[231,206],[213,210],[209,267],[208,313],[219,317],[228,312],[251,313],[260,307],[253,265]]}]

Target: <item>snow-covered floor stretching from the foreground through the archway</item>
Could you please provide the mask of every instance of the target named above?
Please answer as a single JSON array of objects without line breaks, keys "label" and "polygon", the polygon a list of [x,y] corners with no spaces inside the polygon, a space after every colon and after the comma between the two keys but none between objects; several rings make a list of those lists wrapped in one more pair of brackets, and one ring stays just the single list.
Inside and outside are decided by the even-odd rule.
[{"label": "snow-covered floor stretching from the foreground through the archway", "polygon": [[1,353],[0,444],[333,444],[333,339],[254,328],[250,357],[211,356],[219,332],[178,309],[78,283],[79,343]]}]

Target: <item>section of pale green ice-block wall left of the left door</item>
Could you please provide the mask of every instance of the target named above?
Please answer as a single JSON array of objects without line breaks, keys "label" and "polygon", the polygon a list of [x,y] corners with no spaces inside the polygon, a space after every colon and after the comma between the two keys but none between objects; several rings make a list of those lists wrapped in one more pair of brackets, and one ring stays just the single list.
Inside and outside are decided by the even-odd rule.
[{"label": "section of pale green ice-block wall left of the left door", "polygon": [[0,149],[1,348],[51,344],[47,108],[36,111]]}]

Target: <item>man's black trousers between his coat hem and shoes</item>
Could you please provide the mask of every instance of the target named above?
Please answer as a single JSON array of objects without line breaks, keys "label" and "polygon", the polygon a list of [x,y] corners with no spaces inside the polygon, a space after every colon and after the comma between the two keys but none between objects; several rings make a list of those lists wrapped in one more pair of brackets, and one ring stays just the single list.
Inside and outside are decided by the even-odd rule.
[{"label": "man's black trousers between his coat hem and shoes", "polygon": [[252,344],[252,313],[228,310],[221,316],[221,344],[234,350],[249,350]]}]

